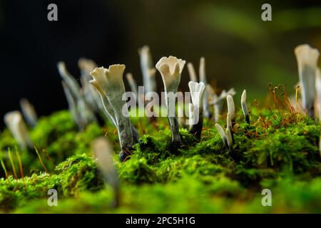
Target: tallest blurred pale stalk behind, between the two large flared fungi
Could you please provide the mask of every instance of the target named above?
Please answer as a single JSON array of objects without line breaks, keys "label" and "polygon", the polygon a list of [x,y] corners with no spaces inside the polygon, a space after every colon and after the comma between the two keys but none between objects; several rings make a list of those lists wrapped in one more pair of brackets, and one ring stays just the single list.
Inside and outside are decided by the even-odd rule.
[{"label": "tallest blurred pale stalk behind, between the two large flared fungi", "polygon": [[141,71],[143,74],[145,94],[148,92],[156,92],[156,69],[153,68],[151,51],[148,46],[143,46],[138,49],[138,53],[141,59]]}]

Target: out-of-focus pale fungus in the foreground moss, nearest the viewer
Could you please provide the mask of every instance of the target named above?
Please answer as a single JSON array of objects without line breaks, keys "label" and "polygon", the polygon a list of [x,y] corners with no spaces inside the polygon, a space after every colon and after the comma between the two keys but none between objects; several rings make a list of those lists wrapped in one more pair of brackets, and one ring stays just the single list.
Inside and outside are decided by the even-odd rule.
[{"label": "out-of-focus pale fungus in the foreground moss, nearest the viewer", "polygon": [[113,148],[106,138],[93,141],[93,155],[96,158],[98,169],[103,175],[103,180],[113,187],[114,200],[112,207],[118,207],[120,199],[119,179],[113,162]]}]

